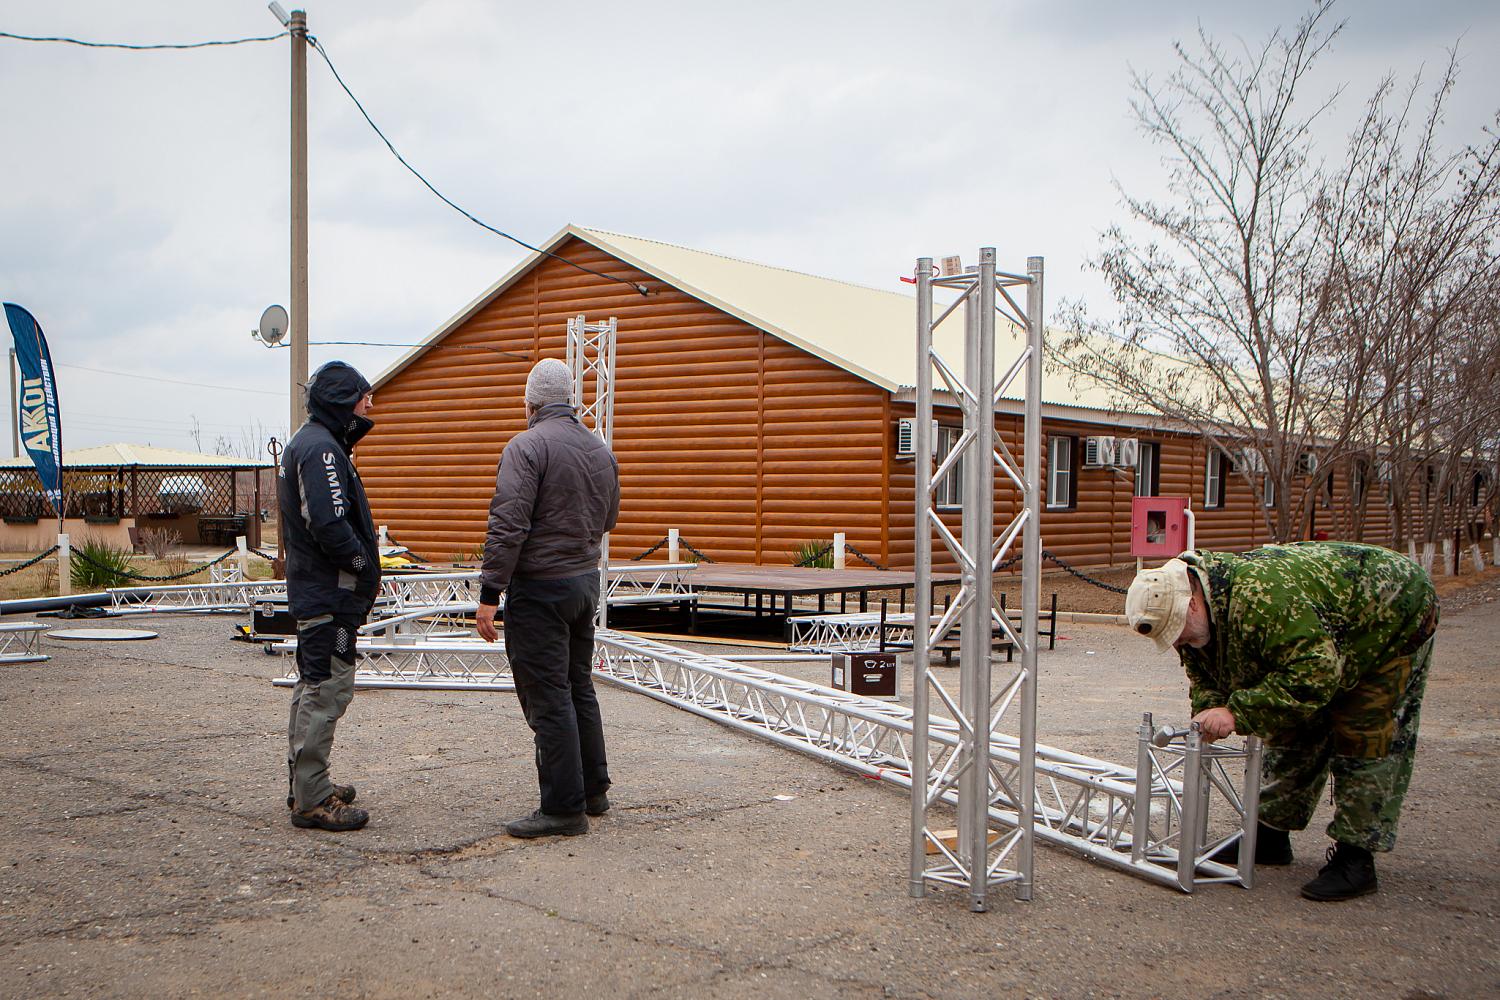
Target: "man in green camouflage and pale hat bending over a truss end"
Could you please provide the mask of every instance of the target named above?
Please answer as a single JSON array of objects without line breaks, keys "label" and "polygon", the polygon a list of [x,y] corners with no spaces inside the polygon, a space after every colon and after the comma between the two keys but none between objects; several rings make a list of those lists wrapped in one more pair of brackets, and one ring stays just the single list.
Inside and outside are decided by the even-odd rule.
[{"label": "man in green camouflage and pale hat bending over a truss end", "polygon": [[1200,549],[1140,573],[1126,616],[1178,649],[1206,739],[1266,741],[1257,864],[1292,862],[1287,831],[1306,828],[1332,774],[1335,843],[1302,895],[1374,892],[1371,852],[1395,846],[1416,756],[1438,618],[1428,574],[1340,541]]}]

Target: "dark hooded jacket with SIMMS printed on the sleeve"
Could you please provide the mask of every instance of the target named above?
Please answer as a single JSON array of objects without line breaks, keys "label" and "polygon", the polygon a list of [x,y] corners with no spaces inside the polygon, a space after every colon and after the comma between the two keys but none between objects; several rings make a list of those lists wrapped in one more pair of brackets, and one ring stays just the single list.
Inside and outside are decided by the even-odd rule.
[{"label": "dark hooded jacket with SIMMS printed on the sleeve", "polygon": [[375,424],[354,412],[370,384],[344,361],[308,379],[308,423],[276,475],[286,597],[298,619],[369,615],[380,589],[380,547],[354,444]]}]

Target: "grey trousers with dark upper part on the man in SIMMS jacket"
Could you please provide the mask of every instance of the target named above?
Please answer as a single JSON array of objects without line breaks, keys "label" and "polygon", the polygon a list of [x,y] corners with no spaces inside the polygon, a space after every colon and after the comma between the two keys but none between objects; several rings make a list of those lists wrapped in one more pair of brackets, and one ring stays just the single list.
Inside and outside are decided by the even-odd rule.
[{"label": "grey trousers with dark upper part on the man in SIMMS jacket", "polygon": [[297,687],[286,723],[286,807],[304,811],[333,795],[333,732],[354,699],[358,622],[332,615],[297,622]]}]

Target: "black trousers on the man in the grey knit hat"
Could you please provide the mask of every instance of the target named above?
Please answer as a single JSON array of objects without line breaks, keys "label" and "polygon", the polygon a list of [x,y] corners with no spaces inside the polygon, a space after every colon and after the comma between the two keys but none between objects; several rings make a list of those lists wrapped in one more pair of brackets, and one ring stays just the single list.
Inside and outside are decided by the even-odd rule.
[{"label": "black trousers on the man in the grey knit hat", "polygon": [[576,816],[609,787],[604,723],[594,694],[598,574],[516,577],[506,591],[506,655],[536,733],[542,811]]}]

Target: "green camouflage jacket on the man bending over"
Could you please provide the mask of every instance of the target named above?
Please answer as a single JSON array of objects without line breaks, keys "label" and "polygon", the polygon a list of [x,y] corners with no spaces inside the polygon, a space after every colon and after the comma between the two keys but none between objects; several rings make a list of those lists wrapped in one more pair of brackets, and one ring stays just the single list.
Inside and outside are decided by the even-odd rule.
[{"label": "green camouflage jacket on the man bending over", "polygon": [[1240,733],[1305,726],[1437,628],[1432,580],[1377,546],[1302,541],[1182,553],[1209,598],[1209,643],[1184,648],[1192,712],[1220,705]]}]

